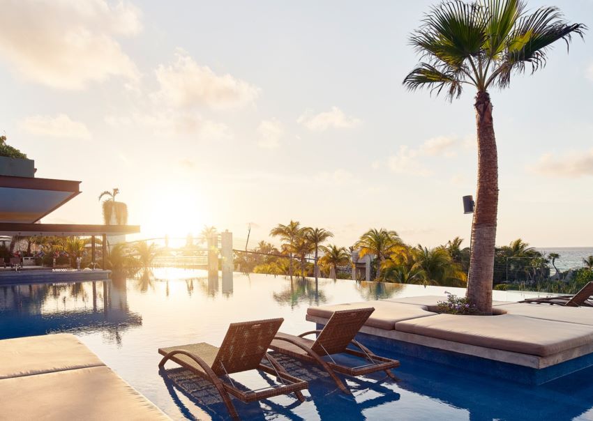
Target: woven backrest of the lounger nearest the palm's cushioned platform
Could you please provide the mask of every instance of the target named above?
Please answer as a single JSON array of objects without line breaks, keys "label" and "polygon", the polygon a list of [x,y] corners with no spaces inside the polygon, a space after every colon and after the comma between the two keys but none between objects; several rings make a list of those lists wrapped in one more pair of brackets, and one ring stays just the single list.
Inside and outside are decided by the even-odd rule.
[{"label": "woven backrest of the lounger nearest the palm's cushioned platform", "polygon": [[344,352],[374,311],[369,307],[333,312],[311,349],[320,355]]}]

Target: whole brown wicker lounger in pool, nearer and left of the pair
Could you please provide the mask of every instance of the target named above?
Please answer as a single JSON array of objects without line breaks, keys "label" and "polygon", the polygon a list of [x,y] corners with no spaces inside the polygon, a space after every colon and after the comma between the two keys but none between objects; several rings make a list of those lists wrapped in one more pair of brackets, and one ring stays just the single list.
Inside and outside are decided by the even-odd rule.
[{"label": "whole brown wicker lounger in pool, nearer and left of the pair", "polygon": [[[231,323],[227,335],[220,348],[206,344],[190,344],[160,348],[158,353],[165,355],[158,367],[163,367],[167,360],[177,362],[198,376],[210,381],[220,393],[232,418],[239,418],[230,395],[243,402],[252,402],[278,395],[294,392],[300,401],[305,398],[300,390],[306,389],[306,381],[290,376],[286,370],[268,355],[267,350],[284,319],[268,319]],[[262,364],[262,358],[267,358],[270,366]],[[229,374],[246,372],[253,369],[262,370],[276,376],[279,385],[258,390],[237,388]],[[228,381],[223,381],[227,377]]]}]

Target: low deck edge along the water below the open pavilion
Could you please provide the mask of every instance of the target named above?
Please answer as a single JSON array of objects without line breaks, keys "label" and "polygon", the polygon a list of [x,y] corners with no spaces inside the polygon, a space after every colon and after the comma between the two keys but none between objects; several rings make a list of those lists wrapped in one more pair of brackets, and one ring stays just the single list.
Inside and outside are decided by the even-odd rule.
[{"label": "low deck edge along the water below the open pavilion", "polygon": [[52,270],[43,269],[3,269],[0,268],[0,285],[38,284],[42,282],[82,282],[108,280],[111,270]]}]

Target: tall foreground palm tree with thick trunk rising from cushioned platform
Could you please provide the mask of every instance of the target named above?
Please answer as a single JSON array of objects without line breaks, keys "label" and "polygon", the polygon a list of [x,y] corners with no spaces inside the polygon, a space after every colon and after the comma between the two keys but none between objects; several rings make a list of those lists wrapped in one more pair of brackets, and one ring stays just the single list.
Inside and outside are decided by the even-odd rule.
[{"label": "tall foreground palm tree with thick trunk rising from cushioned platform", "polygon": [[410,36],[424,61],[404,79],[414,91],[427,87],[458,98],[464,86],[476,89],[478,185],[472,225],[467,298],[483,314],[492,313],[492,285],[498,208],[498,164],[492,103],[488,89],[506,88],[513,73],[546,64],[550,45],[583,24],[567,24],[554,7],[527,14],[522,0],[444,1],[433,7]]}]

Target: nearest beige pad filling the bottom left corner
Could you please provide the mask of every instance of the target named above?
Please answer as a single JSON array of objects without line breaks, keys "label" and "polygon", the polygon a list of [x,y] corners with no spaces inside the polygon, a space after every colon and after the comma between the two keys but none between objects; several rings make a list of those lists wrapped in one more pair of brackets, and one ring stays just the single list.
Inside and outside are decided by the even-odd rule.
[{"label": "nearest beige pad filling the bottom left corner", "polygon": [[169,420],[109,367],[0,380],[4,420]]}]

